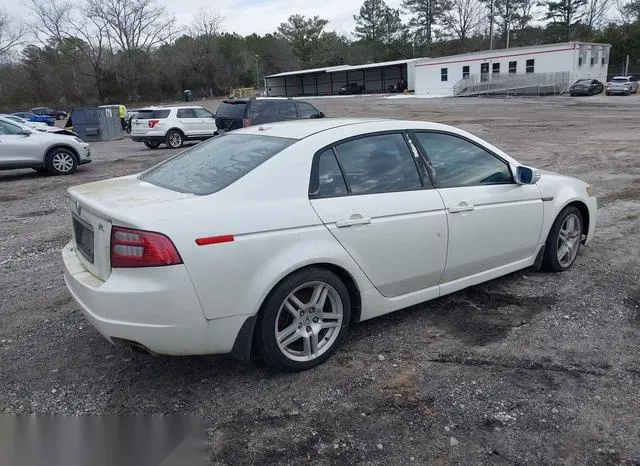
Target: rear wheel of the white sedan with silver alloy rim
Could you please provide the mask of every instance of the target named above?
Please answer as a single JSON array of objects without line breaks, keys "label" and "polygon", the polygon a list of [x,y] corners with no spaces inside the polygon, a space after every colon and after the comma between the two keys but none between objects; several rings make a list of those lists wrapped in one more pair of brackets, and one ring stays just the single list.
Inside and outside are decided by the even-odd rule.
[{"label": "rear wheel of the white sedan with silver alloy rim", "polygon": [[346,286],[333,272],[310,268],[284,279],[258,319],[258,345],[266,363],[282,372],[311,369],[344,341],[351,319]]}]

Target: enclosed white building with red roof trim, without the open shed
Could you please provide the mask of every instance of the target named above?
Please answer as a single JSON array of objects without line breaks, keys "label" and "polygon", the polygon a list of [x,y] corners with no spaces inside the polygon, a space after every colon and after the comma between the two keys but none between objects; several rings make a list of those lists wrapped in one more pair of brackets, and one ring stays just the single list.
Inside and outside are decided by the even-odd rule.
[{"label": "enclosed white building with red roof trim, without the open shed", "polygon": [[415,68],[416,94],[464,95],[465,89],[473,89],[471,94],[481,85],[500,91],[535,83],[564,86],[581,78],[605,82],[610,49],[609,44],[568,42],[423,58],[409,67]]}]

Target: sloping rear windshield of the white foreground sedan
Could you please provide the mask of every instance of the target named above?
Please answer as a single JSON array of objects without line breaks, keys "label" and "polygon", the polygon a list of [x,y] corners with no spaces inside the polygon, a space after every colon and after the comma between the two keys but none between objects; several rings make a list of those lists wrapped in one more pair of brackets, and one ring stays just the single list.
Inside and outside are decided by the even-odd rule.
[{"label": "sloping rear windshield of the white foreground sedan", "polygon": [[272,136],[225,134],[156,165],[140,179],[204,196],[226,188],[294,142]]}]

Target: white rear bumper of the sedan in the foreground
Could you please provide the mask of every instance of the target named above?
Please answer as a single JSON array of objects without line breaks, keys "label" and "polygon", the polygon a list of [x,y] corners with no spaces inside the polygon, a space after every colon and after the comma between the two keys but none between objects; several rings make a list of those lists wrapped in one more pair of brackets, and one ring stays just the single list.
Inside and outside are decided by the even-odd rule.
[{"label": "white rear bumper of the sedan in the foreground", "polygon": [[114,269],[102,281],[73,243],[62,250],[64,279],[87,320],[111,343],[125,340],[157,354],[224,354],[248,315],[206,320],[184,266]]}]

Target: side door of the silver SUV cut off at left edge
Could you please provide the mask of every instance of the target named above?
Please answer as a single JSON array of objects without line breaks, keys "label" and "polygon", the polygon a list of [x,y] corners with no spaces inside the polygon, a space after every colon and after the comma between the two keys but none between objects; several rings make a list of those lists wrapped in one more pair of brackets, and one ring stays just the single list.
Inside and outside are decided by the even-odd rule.
[{"label": "side door of the silver SUV cut off at left edge", "polygon": [[44,154],[39,134],[23,134],[25,128],[0,121],[0,165],[41,163]]}]

